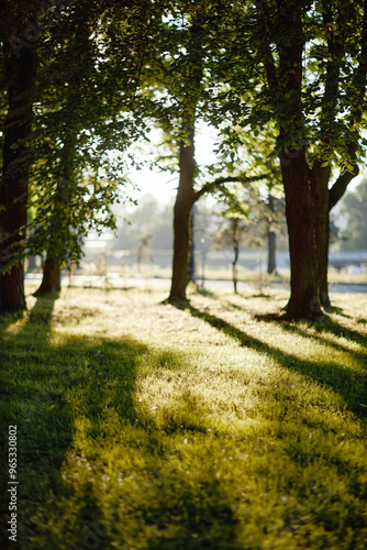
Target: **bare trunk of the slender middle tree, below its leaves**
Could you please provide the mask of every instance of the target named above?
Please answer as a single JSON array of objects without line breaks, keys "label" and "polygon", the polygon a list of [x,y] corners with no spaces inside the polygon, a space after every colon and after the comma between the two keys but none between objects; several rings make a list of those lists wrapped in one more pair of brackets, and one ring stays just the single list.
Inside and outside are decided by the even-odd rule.
[{"label": "bare trunk of the slender middle tree, below its leaves", "polygon": [[189,274],[189,253],[191,246],[191,209],[194,202],[194,131],[189,134],[189,144],[180,144],[180,178],[174,209],[174,261],[173,278],[168,301],[185,301]]}]

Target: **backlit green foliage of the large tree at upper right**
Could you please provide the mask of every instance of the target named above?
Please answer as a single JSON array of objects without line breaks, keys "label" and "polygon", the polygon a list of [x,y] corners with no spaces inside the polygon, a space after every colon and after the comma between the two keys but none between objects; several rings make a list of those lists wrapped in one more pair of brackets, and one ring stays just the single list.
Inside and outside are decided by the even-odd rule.
[{"label": "backlit green foliage of the large tree at upper right", "polygon": [[[229,64],[224,69],[218,65],[219,77],[227,86],[216,96],[216,109],[227,120],[214,117],[229,142],[238,142],[238,128],[256,136],[271,122],[280,132],[275,154],[282,148],[289,153],[307,147],[310,166],[318,161],[342,173],[352,172],[355,152],[349,144],[356,144],[360,160],[366,146],[362,134],[367,67],[364,2],[320,1],[311,6],[271,0],[246,8],[233,2],[232,8],[237,14],[232,14],[232,21],[240,21],[236,40],[227,45]],[[298,32],[298,16],[303,67],[296,69],[294,65],[292,73],[291,59],[286,56]],[[287,86],[292,86],[292,74],[298,69],[301,90],[292,91]]]}]

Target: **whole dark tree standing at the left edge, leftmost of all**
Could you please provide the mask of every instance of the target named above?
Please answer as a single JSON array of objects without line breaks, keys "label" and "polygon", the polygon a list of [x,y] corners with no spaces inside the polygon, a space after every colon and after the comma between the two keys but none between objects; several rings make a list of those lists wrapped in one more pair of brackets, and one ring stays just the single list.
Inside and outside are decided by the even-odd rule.
[{"label": "whole dark tree standing at the left edge, leftmost of all", "polygon": [[32,36],[16,43],[24,25],[33,24],[40,2],[0,3],[1,47],[7,86],[0,183],[0,311],[25,308],[24,267],[20,254],[25,239],[29,151],[37,54]]}]

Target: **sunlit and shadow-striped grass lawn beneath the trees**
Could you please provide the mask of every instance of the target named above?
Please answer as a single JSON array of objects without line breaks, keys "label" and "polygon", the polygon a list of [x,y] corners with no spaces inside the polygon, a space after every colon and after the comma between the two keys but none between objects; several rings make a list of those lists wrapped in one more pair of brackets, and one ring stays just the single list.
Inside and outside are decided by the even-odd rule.
[{"label": "sunlit and shadow-striped grass lawn beneath the trees", "polygon": [[165,297],[65,289],[0,320],[9,547],[366,550],[366,296],[315,324],[262,318],[281,293]]}]

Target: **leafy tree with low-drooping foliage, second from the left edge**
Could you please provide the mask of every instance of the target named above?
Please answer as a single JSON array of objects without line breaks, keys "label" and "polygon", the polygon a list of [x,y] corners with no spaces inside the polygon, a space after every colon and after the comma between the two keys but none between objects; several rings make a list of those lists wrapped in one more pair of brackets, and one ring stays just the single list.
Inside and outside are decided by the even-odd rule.
[{"label": "leafy tree with low-drooping foliage, second from the left edge", "polygon": [[129,199],[123,158],[137,125],[120,117],[126,98],[116,99],[101,54],[104,10],[80,2],[48,26],[38,47],[27,249],[45,251],[46,261],[36,296],[60,288],[60,270],[79,262],[88,231],[116,229],[111,206]]}]

